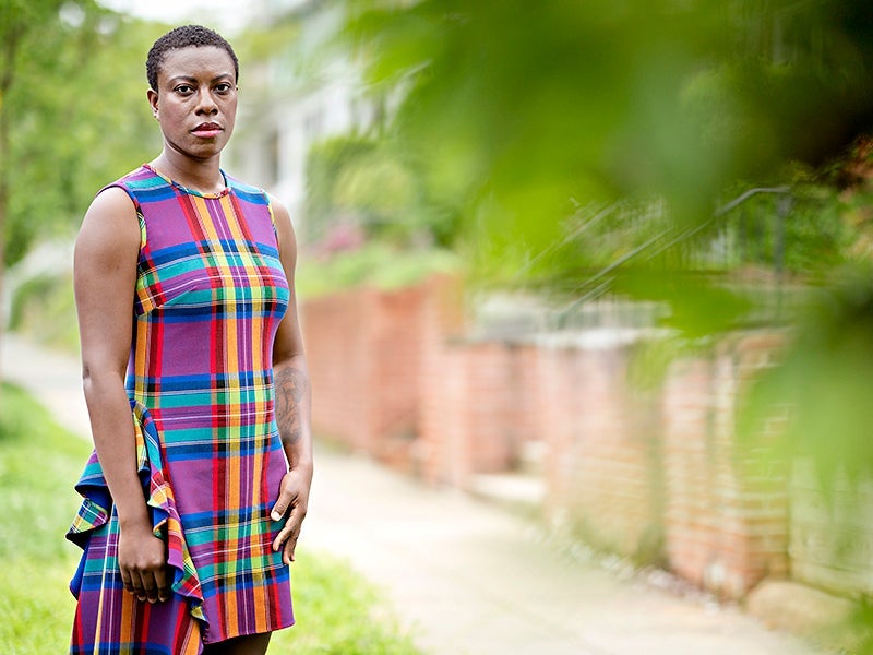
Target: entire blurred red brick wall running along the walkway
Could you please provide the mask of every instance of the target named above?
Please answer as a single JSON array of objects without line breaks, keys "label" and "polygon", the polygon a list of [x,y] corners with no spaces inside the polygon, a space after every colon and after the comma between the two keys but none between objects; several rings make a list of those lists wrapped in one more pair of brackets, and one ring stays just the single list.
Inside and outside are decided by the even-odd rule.
[{"label": "entire blurred red brick wall running along the walkway", "polygon": [[738,440],[751,378],[781,338],[744,335],[627,382],[631,346],[513,344],[463,332],[459,285],[357,289],[301,305],[315,430],[467,488],[547,444],[547,513],[589,540],[726,596],[787,572],[785,472]]}]

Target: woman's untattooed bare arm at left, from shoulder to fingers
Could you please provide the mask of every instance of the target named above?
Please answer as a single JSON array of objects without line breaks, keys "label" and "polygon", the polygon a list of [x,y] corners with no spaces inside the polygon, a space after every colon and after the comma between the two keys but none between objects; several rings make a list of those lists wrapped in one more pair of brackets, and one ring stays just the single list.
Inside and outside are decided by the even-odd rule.
[{"label": "woman's untattooed bare arm at left, from shoulder to fingers", "polygon": [[124,390],[139,249],[132,201],[121,189],[107,189],[88,207],[75,245],[82,378],[94,446],[118,512],[121,577],[141,600],[155,602],[168,596],[164,543],[152,534],[136,475],[133,419]]}]

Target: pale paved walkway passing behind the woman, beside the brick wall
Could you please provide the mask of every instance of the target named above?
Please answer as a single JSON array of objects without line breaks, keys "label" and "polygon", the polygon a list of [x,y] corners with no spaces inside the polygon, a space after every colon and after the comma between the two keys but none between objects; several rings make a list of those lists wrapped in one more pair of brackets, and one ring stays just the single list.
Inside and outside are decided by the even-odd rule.
[{"label": "pale paved walkway passing behind the woman, beside the brick wall", "polygon": [[[0,361],[8,379],[87,433],[76,361],[15,337]],[[316,457],[301,548],[348,559],[432,655],[815,652],[733,608],[562,556],[536,524],[459,492],[323,445]]]}]

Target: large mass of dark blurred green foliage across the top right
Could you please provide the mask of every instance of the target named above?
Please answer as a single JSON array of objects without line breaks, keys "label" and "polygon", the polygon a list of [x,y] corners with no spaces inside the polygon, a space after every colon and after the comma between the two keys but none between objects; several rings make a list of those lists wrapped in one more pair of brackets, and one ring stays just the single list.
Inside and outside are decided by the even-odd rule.
[{"label": "large mass of dark blurred green foliage across the top right", "polygon": [[[714,239],[740,240],[727,215],[711,221],[731,190],[805,182],[873,126],[864,2],[347,5],[344,43],[375,92],[402,90],[391,138],[422,163],[427,196],[461,216],[483,279],[539,267],[582,281],[618,260],[613,279],[641,262],[687,269],[683,247],[699,263]],[[794,209],[781,265],[838,263],[841,218],[822,229],[818,207]],[[750,259],[773,263],[773,240]]]}]

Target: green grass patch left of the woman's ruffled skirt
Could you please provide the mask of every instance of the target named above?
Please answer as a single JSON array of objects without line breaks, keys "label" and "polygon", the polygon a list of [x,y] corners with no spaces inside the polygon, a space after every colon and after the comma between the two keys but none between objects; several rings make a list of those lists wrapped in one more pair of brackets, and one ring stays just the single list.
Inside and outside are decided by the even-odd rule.
[{"label": "green grass patch left of the woman's ruffled skirt", "polygon": [[62,653],[74,611],[77,549],[63,539],[77,507],[70,487],[89,446],[21,389],[0,385],[0,653]]}]

